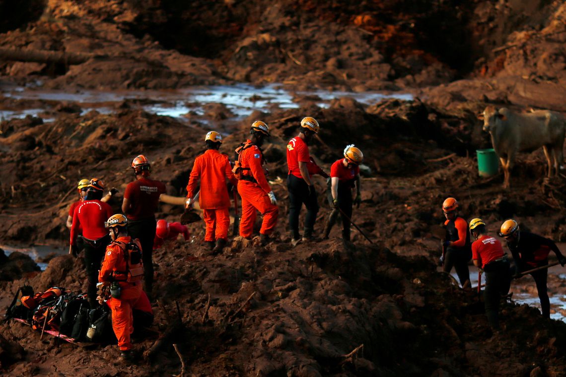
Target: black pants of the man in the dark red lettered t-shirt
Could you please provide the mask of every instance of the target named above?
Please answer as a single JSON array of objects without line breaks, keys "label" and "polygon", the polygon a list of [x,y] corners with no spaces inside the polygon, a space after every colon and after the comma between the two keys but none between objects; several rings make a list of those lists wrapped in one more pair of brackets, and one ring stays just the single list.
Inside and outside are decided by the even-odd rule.
[{"label": "black pants of the man in the dark red lettered t-shirt", "polygon": [[128,220],[128,233],[132,239],[140,240],[143,261],[145,292],[151,295],[153,289],[153,239],[155,239],[155,218]]}]

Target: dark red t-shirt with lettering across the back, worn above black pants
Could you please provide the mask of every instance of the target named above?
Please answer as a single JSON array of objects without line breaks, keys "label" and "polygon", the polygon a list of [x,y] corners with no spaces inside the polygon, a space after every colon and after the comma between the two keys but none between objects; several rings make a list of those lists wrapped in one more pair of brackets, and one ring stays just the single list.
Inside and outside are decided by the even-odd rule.
[{"label": "dark red t-shirt with lettering across the back, worn above black pants", "polygon": [[126,215],[128,220],[153,218],[159,196],[163,193],[165,193],[165,184],[160,181],[142,177],[128,183],[124,192],[124,197],[132,205]]}]

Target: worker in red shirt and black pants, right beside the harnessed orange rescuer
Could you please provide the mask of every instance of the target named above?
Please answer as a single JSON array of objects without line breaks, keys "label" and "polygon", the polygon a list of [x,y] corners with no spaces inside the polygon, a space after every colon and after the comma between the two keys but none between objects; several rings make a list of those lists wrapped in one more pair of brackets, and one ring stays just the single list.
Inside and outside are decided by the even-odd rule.
[{"label": "worker in red shirt and black pants, right beside the harnessed orange rescuer", "polygon": [[312,138],[319,132],[320,126],[316,119],[306,116],[301,120],[299,135],[291,138],[287,144],[287,188],[289,190],[289,228],[291,231],[291,243],[297,245],[301,241],[299,234],[299,213],[305,203],[307,215],[305,218],[305,229],[303,231],[303,241],[312,240],[312,232],[318,213],[318,198],[314,182],[311,175],[316,171],[328,177],[321,170],[314,159],[308,154],[308,145]]}]

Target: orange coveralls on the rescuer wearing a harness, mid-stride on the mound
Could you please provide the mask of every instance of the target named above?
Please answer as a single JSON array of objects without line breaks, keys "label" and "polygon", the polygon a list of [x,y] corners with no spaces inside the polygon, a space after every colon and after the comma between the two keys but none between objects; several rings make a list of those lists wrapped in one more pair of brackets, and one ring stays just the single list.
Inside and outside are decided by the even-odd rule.
[{"label": "orange coveralls on the rescuer wearing a harness, mid-stride on the mound", "polygon": [[[246,143],[251,143],[247,140]],[[265,179],[265,174],[261,165],[263,164],[263,154],[256,145],[243,150],[239,156],[239,161],[243,170],[242,175],[250,175],[257,182],[244,179],[238,180],[238,193],[242,197],[242,219],[240,220],[240,236],[250,238],[254,232],[254,224],[257,211],[263,215],[260,233],[269,235],[277,224],[279,209],[269,200],[267,194],[271,187]]]}]

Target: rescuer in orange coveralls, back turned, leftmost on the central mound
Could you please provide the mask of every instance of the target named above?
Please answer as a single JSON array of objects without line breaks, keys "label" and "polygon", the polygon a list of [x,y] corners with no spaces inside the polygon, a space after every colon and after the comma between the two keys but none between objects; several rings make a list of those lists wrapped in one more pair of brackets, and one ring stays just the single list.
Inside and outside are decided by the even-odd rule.
[{"label": "rescuer in orange coveralls, back turned, leftmost on the central mound", "polygon": [[222,145],[220,133],[208,132],[204,142],[207,150],[195,158],[188,179],[185,207],[192,206],[196,184],[200,179],[199,205],[206,225],[204,242],[214,253],[219,253],[226,246],[230,226],[230,196],[226,180],[233,185],[237,185],[238,181],[234,177],[228,156],[218,151]]}]

